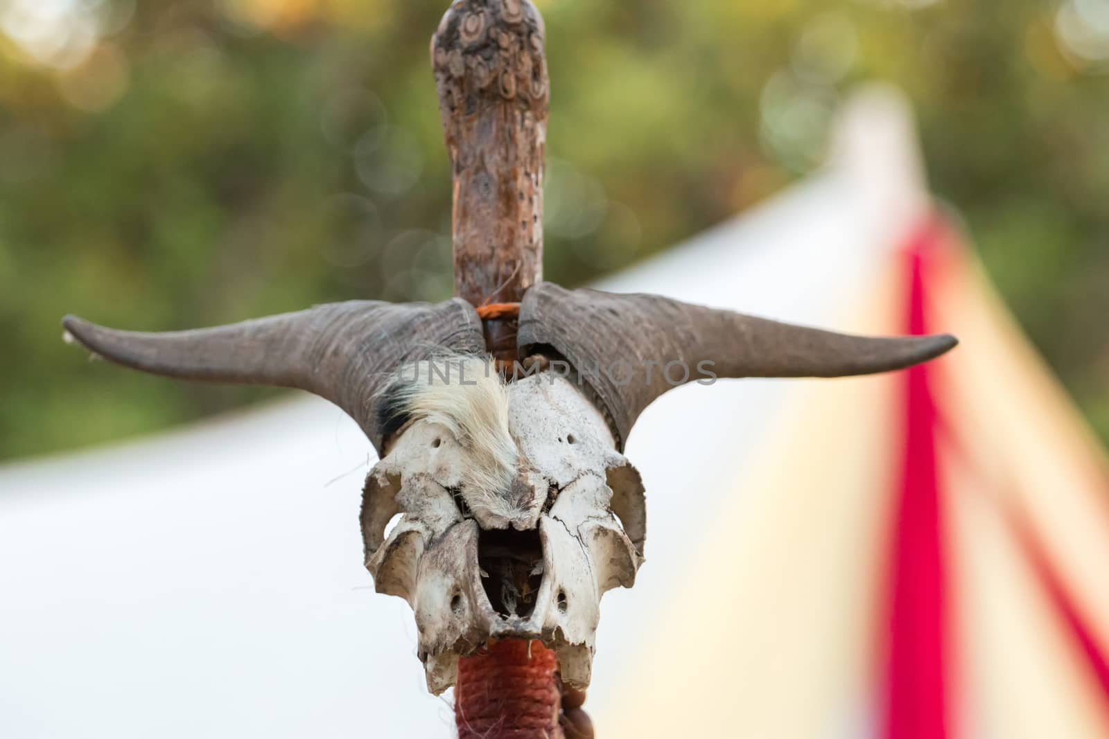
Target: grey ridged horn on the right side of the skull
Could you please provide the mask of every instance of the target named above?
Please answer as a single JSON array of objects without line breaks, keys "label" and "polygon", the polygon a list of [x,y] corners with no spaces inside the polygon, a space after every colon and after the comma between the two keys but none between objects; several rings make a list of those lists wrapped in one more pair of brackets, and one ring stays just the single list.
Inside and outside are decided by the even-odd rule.
[{"label": "grey ridged horn on the right side of the skull", "polygon": [[550,347],[573,366],[607,412],[621,449],[639,414],[684,382],[871,374],[927,361],[958,343],[946,335],[847,336],[655,295],[567,290],[551,283],[523,296],[517,340],[521,356]]}]

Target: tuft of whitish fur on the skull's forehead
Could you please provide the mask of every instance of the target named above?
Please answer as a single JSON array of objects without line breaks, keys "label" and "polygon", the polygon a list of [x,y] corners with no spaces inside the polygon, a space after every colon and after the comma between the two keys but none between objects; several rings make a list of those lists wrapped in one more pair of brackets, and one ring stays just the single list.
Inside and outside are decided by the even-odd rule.
[{"label": "tuft of whitish fur on the skull's forehead", "polygon": [[516,442],[508,431],[508,390],[492,360],[469,355],[416,362],[398,373],[395,399],[413,419],[446,427],[467,451],[462,494],[497,515],[510,515]]}]

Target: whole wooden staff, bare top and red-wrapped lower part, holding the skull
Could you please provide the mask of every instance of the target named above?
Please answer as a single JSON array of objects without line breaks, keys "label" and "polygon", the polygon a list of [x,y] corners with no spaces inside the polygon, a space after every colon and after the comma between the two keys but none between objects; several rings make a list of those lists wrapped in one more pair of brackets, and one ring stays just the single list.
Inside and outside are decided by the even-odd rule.
[{"label": "whole wooden staff, bare top and red-wrapped lower part, holding the skull", "polygon": [[[543,34],[528,0],[458,0],[431,37],[454,181],[455,292],[478,308],[486,347],[503,362],[519,359],[518,304],[542,279]],[[459,659],[459,737],[592,737],[584,695],[563,694],[557,670],[539,642]]]}]

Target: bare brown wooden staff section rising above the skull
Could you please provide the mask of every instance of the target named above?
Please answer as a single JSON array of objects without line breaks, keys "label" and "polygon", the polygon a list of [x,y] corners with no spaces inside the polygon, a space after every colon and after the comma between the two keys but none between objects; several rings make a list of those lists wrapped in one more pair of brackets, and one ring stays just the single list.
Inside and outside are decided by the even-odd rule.
[{"label": "bare brown wooden staff section rising above the skull", "polygon": [[509,361],[511,304],[542,279],[550,100],[543,33],[528,0],[460,0],[431,38],[454,178],[455,292],[492,308],[487,342]]}]

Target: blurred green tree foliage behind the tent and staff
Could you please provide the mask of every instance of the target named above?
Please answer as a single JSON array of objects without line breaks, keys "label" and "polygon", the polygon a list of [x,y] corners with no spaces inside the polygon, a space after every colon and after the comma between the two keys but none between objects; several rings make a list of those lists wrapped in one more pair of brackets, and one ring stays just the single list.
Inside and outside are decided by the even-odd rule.
[{"label": "blurred green tree foliage behind the tent and staff", "polygon": [[[1109,440],[1109,0],[539,0],[547,276],[577,284],[818,166],[902,85],[933,185]],[[90,369],[132,329],[451,290],[427,41],[445,0],[0,0],[0,458],[263,391]]]}]

